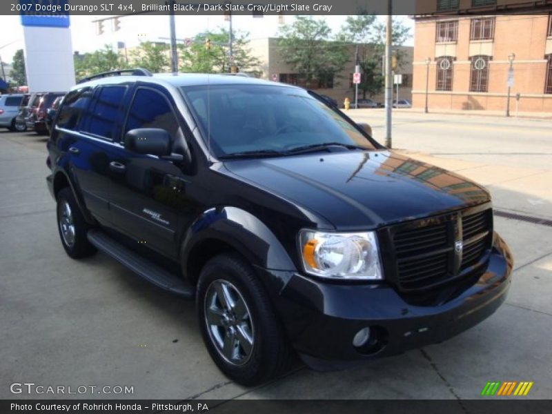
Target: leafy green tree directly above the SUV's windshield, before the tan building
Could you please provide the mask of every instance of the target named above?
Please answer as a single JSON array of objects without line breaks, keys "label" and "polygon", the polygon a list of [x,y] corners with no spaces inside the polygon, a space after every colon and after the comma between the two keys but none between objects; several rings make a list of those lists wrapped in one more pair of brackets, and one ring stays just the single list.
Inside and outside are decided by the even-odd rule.
[{"label": "leafy green tree directly above the SUV's windshield, before the tan building", "polygon": [[279,30],[282,59],[297,71],[306,86],[333,79],[351,60],[344,43],[332,41],[331,28],[323,19],[297,16]]}]

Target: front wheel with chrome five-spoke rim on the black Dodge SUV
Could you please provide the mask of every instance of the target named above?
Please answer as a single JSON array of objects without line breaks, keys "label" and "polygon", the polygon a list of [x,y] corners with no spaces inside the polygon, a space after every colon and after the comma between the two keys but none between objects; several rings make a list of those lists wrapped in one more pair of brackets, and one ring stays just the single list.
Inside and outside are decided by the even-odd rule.
[{"label": "front wheel with chrome five-spoke rim on the black Dodge SUV", "polygon": [[201,270],[197,316],[210,356],[231,380],[251,386],[286,368],[288,341],[270,297],[238,255],[219,255]]}]

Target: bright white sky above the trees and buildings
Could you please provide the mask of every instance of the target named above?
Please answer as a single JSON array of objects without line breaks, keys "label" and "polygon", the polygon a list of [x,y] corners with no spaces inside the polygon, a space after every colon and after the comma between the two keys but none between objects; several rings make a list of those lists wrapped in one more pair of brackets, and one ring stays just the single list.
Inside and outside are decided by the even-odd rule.
[{"label": "bright white sky above the trees and buildings", "polygon": [[[162,37],[169,36],[168,16],[130,16],[120,19],[121,29],[113,32],[110,21],[104,23],[104,32],[96,34],[96,24],[93,20],[105,16],[71,16],[71,37],[73,51],[79,53],[93,52],[104,44],[115,46],[117,41],[124,41],[127,47],[137,46],[140,41],[163,41]],[[285,23],[291,23],[293,16],[285,16]],[[380,16],[380,18],[384,18]],[[402,19],[413,28],[413,21],[408,17],[394,17]],[[343,25],[346,16],[325,16],[324,19],[337,32]],[[199,32],[215,29],[219,26],[228,27],[222,15],[217,16],[176,16],[177,38],[193,37]],[[262,18],[253,18],[250,15],[235,15],[233,17],[234,30],[249,32],[250,39],[273,37],[278,31],[278,18],[266,15]],[[2,37],[0,40],[0,57],[6,63],[11,63],[17,49],[24,48],[23,28],[19,16],[0,16]],[[412,30],[413,32],[413,30]],[[413,45],[411,39],[407,46]],[[7,45],[7,46],[6,46]]]}]

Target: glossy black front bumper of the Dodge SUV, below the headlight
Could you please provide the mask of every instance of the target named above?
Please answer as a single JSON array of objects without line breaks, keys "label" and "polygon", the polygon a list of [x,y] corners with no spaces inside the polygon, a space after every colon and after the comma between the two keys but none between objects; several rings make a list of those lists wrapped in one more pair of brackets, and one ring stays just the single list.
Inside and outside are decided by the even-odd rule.
[{"label": "glossy black front bumper of the Dodge SUV, below the headlight", "polygon": [[[495,233],[480,277],[433,304],[413,305],[386,284],[329,284],[297,273],[275,304],[306,364],[320,370],[344,368],[358,360],[442,342],[480,323],[506,299],[512,266],[508,246]],[[372,328],[377,344],[355,348],[353,337],[366,326]]]}]

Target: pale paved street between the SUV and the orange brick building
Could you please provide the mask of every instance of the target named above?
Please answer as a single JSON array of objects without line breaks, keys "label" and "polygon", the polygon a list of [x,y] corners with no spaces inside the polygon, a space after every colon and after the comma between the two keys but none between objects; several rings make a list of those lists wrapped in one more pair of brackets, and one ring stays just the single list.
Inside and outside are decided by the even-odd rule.
[{"label": "pale paved street between the SUV and the orange brick building", "polygon": [[[384,110],[349,110],[384,143]],[[551,168],[552,120],[393,112],[393,147],[504,166]]]}]

